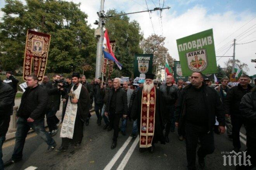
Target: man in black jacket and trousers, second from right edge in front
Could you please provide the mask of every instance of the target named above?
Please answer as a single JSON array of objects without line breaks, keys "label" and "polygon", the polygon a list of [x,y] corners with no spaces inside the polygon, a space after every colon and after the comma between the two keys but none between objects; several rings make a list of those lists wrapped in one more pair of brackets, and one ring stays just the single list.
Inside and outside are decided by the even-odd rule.
[{"label": "man in black jacket and trousers, second from right edge in front", "polygon": [[235,87],[230,88],[227,93],[227,97],[224,99],[224,109],[225,114],[230,115],[232,123],[232,137],[234,151],[239,152],[241,148],[240,143],[240,128],[244,121],[242,119],[241,112],[239,110],[239,105],[241,99],[246,93],[251,90],[251,85],[249,84],[250,77],[248,75],[242,75],[239,79],[239,84]]}]

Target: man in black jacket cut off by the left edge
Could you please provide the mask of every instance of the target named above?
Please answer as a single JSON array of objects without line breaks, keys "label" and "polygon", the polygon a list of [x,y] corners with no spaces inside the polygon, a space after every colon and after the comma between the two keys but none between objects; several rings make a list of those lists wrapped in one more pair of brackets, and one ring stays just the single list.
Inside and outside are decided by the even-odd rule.
[{"label": "man in black jacket cut off by the left edge", "polygon": [[13,88],[0,80],[0,169],[3,169],[2,146],[9,128],[10,113],[14,98],[15,93]]}]

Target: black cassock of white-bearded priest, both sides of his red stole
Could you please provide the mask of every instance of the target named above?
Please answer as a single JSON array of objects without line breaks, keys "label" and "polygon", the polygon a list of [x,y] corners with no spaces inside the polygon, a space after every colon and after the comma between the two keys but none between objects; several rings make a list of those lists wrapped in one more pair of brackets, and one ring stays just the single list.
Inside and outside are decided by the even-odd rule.
[{"label": "black cassock of white-bearded priest, both sides of his red stole", "polygon": [[[138,134],[140,135],[140,120],[141,120],[141,108],[142,108],[142,92],[143,88],[138,90],[137,95],[135,96],[133,102],[133,108],[131,111],[131,118],[133,120],[137,119],[138,124]],[[161,92],[156,88],[156,106],[155,106],[155,125],[154,125],[154,137],[152,143],[157,143],[158,141],[161,144],[165,144],[163,129],[164,129],[164,117],[165,110],[163,105],[163,98],[161,96]]]}]

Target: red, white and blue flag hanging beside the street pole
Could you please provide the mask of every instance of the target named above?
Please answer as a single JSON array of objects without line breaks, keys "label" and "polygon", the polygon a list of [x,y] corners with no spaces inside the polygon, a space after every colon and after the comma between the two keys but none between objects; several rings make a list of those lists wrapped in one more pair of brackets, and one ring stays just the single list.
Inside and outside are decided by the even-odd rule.
[{"label": "red, white and blue flag hanging beside the street pole", "polygon": [[112,51],[112,48],[110,46],[110,43],[109,43],[109,35],[107,34],[107,29],[105,31],[105,34],[104,34],[104,39],[103,39],[103,54],[104,54],[104,57],[107,58],[107,59],[110,59],[112,61],[114,61],[116,63],[116,65],[118,66],[118,68],[120,70],[122,70],[122,65],[121,63],[119,63],[119,61],[116,59],[113,51]]}]

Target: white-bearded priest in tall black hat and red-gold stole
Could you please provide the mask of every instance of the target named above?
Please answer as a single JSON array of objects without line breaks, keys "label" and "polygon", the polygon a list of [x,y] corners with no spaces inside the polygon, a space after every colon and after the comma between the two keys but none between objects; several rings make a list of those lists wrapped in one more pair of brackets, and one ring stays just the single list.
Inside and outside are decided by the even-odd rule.
[{"label": "white-bearded priest in tall black hat and red-gold stole", "polygon": [[144,87],[138,90],[131,112],[131,118],[138,122],[140,152],[148,148],[153,153],[154,143],[158,141],[165,144],[163,99],[160,90],[154,87],[153,79],[153,74],[145,74]]}]

